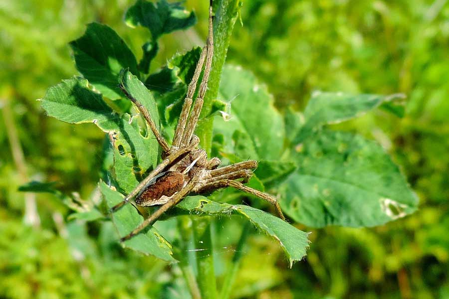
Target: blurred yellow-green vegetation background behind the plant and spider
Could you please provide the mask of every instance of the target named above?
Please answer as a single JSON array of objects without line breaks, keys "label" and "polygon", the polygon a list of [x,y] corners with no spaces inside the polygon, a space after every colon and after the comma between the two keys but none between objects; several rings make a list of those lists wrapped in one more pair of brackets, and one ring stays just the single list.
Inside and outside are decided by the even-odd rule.
[{"label": "blurred yellow-green vegetation background behind the plant and spider", "polygon": [[[122,21],[133,2],[0,2],[0,298],[188,296],[176,265],[122,250],[110,223],[68,221],[57,196],[17,191],[39,180],[81,198],[93,192],[104,135],[46,117],[36,99],[77,74],[67,42],[86,23],[110,25],[141,56],[148,32]],[[162,37],[153,69],[203,44],[204,2],[186,1],[199,23]],[[313,90],[407,95],[403,118],[378,111],[338,127],[377,140],[401,165],[420,209],[369,229],[305,228],[311,247],[292,270],[274,243],[251,235],[235,297],[449,298],[447,2],[243,1],[227,62],[254,72],[281,111],[302,110]],[[238,238],[232,227],[220,236]],[[217,252],[220,276],[233,250]]]}]

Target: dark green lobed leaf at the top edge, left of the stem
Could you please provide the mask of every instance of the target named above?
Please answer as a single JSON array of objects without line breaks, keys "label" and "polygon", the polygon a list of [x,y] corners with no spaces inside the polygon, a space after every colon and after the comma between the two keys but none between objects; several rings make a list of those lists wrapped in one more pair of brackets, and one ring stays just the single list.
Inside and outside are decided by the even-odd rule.
[{"label": "dark green lobed leaf at the top edge, left of the stem", "polygon": [[195,13],[187,11],[181,2],[169,3],[160,0],[157,4],[147,0],[137,0],[125,14],[125,22],[130,27],[147,27],[156,41],[162,34],[186,29],[197,21]]}]

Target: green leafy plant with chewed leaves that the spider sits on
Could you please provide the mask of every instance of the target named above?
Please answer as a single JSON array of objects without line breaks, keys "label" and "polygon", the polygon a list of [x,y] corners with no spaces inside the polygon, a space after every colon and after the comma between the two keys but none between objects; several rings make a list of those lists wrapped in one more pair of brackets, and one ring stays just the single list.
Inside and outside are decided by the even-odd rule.
[{"label": "green leafy plant with chewed leaves that the spider sits on", "polygon": [[[378,144],[329,128],[377,107],[396,112],[395,100],[401,97],[315,92],[303,114],[293,110],[280,113],[267,88],[253,74],[241,67],[224,65],[239,7],[238,0],[219,0],[214,6],[217,42],[213,73],[196,133],[203,148],[225,161],[259,160],[259,168],[249,184],[279,194],[285,213],[293,221],[310,227],[375,226],[414,212],[418,204],[416,195]],[[152,39],[142,47],[139,63],[113,29],[91,23],[82,37],[70,43],[76,67],[83,77],[50,87],[41,99],[47,115],[72,124],[94,123],[108,134],[113,164],[98,185],[104,201],[92,209],[110,217],[119,236],[135,228],[148,211],[127,205],[111,215],[108,208],[121,201],[123,194],[130,192],[157,165],[160,149],[118,86],[126,86],[135,95],[170,140],[199,58],[199,50],[194,48],[175,55],[167,66],[147,75],[158,51],[158,38],[195,23],[194,13],[186,12],[179,4],[139,0],[126,12],[125,21],[131,26],[145,26],[151,32]],[[32,188],[48,191],[45,186],[34,184]],[[26,190],[33,190],[30,188]],[[264,206],[256,209],[238,204],[241,196],[240,192],[226,189],[208,198],[188,197],[166,215],[167,219],[178,216],[178,237],[164,236],[159,232],[163,226],[159,230],[158,222],[124,245],[168,262],[178,259],[184,265],[182,270],[195,297],[197,291],[188,261],[171,245],[183,246],[182,236],[191,236],[197,245],[195,250],[210,252],[208,258],[197,255],[197,281],[204,298],[216,297],[210,235],[213,217],[246,219],[279,243],[290,267],[306,255],[307,233],[262,211]],[[252,198],[249,200],[258,204]],[[184,217],[192,214],[197,215]],[[103,214],[87,219],[99,218]],[[193,228],[183,225],[185,221],[192,221]],[[239,244],[246,235],[243,230]],[[236,254],[235,265],[239,258]],[[235,276],[235,271],[228,273],[224,297],[229,295]]]}]

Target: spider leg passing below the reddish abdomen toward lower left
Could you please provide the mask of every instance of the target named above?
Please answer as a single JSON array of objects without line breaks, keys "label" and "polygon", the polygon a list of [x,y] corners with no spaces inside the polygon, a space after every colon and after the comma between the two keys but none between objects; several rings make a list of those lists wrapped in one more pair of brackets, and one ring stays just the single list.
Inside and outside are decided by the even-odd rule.
[{"label": "spider leg passing below the reddish abdomen toward lower left", "polygon": [[168,209],[177,205],[181,200],[183,200],[184,197],[186,197],[187,194],[189,194],[189,192],[195,187],[195,185],[197,183],[198,183],[198,177],[192,178],[187,185],[185,185],[177,193],[173,194],[170,197],[170,199],[165,204],[163,204],[156,212],[151,214],[150,217],[145,219],[136,229],[134,229],[128,235],[121,238],[120,241],[123,242],[123,241],[131,239],[132,237],[134,237],[135,235],[140,233],[142,230],[144,230],[148,225],[154,223]]}]

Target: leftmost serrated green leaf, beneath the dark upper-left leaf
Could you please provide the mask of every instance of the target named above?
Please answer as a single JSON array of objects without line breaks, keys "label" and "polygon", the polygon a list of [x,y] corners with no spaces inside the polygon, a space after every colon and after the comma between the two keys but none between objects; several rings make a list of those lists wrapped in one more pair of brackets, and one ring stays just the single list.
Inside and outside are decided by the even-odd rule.
[{"label": "leftmost serrated green leaf, beneath the dark upper-left leaf", "polygon": [[60,121],[81,124],[95,123],[105,130],[118,128],[118,117],[100,94],[89,89],[86,79],[73,77],[48,88],[40,100],[48,116]]}]

